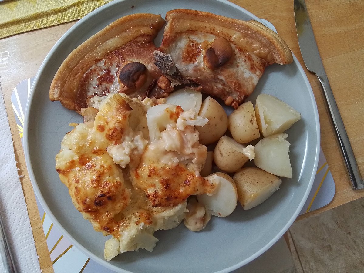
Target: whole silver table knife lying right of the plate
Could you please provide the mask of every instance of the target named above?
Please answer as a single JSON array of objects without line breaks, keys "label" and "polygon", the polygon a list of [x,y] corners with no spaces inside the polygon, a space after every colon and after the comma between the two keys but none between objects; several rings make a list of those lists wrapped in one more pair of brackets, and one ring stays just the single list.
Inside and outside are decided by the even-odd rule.
[{"label": "whole silver table knife lying right of the plate", "polygon": [[305,1],[294,0],[293,4],[298,45],[300,46],[305,66],[310,72],[316,74],[318,81],[322,85],[327,106],[329,108],[329,115],[335,129],[335,135],[337,141],[339,142],[341,153],[343,154],[345,166],[348,171],[352,187],[355,190],[363,189],[364,181],[361,177],[359,166],[356,162],[343,120],[341,119],[339,108],[337,108],[335,97],[332,93],[320,53],[318,52],[316,39],[313,35]]}]

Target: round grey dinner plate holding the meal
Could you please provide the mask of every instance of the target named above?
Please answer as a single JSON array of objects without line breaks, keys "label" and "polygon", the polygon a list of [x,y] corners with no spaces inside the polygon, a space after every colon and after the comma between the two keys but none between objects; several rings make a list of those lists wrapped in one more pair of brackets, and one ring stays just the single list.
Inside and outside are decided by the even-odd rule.
[{"label": "round grey dinner plate holding the meal", "polygon": [[[131,8],[134,6],[134,8]],[[124,0],[112,1],[76,23],[47,55],[34,81],[24,128],[24,151],[29,176],[41,205],[72,244],[100,264],[117,272],[229,272],[247,264],[274,244],[296,219],[311,189],[318,160],[320,130],[316,102],[302,67],[294,58],[286,66],[268,67],[250,99],[260,93],[284,100],[302,114],[287,132],[293,178],[262,205],[232,215],[214,217],[205,230],[193,233],[184,225],[155,233],[160,240],[153,252],[141,250],[103,259],[102,234],[82,218],[55,171],[55,155],[79,115],[48,99],[51,81],[63,60],[79,44],[112,21],[130,13],[160,13],[189,8],[237,19],[256,16],[227,1]]]}]

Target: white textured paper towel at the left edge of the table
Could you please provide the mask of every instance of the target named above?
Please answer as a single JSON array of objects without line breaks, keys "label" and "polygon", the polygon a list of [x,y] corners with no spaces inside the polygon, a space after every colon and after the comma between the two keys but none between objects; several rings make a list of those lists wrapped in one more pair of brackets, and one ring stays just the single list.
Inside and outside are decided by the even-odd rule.
[{"label": "white textured paper towel at the left edge of the table", "polygon": [[[13,141],[0,87],[0,207],[16,268],[40,272],[23,188],[17,173]],[[5,272],[0,258],[0,272]]]}]

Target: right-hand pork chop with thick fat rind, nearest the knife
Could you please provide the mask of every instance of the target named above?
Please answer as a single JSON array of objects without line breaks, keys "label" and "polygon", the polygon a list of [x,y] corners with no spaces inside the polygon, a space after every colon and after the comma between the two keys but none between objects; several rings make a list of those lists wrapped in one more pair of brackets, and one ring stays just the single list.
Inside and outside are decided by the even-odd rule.
[{"label": "right-hand pork chop with thick fat rind, nearest the knife", "polygon": [[191,84],[234,108],[253,92],[265,67],[293,60],[282,38],[254,20],[175,9],[166,21],[154,53],[157,67],[172,85]]}]

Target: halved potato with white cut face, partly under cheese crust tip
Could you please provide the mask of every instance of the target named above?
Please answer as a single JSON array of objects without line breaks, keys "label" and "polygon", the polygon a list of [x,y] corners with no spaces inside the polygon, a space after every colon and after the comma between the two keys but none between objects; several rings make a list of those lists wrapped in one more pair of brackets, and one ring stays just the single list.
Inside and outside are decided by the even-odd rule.
[{"label": "halved potato with white cut face, partly under cheese crust tip", "polygon": [[213,195],[197,195],[197,200],[205,206],[208,213],[218,217],[230,215],[238,203],[238,195],[233,178],[225,173],[213,173],[207,179],[217,183]]}]

